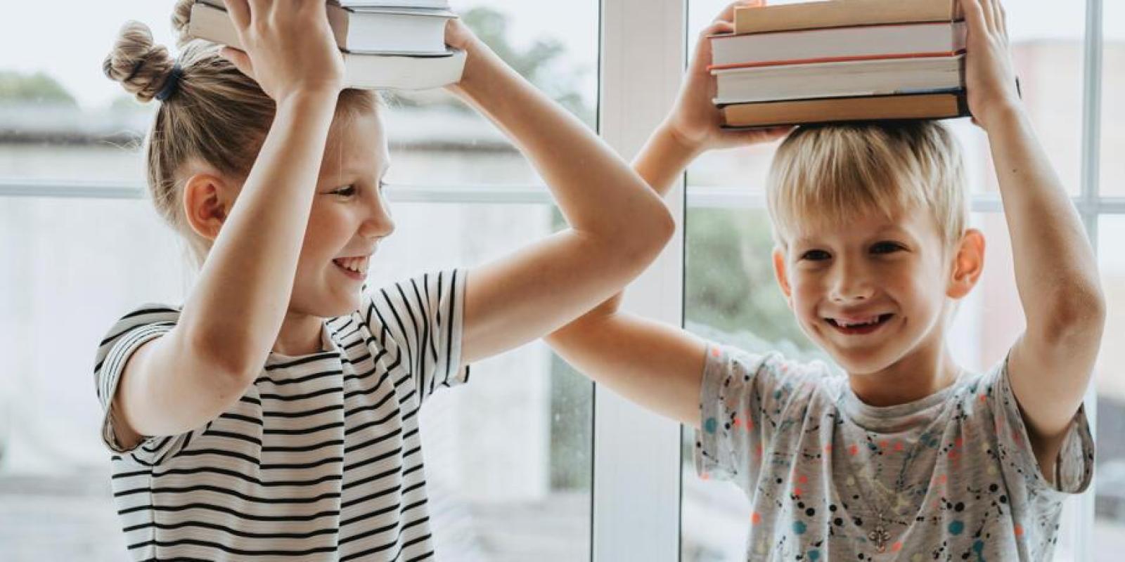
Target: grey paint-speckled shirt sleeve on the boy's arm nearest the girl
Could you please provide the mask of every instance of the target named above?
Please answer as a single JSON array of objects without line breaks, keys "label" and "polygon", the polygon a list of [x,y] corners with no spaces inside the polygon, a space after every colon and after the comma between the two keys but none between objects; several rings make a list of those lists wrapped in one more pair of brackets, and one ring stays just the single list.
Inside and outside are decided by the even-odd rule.
[{"label": "grey paint-speckled shirt sleeve on the boy's arm nearest the girl", "polygon": [[[806,369],[778,353],[750,354],[708,346],[695,430],[695,470],[701,478],[731,480],[753,489],[768,448],[791,409],[807,395]],[[806,389],[807,390],[807,389]]]}]

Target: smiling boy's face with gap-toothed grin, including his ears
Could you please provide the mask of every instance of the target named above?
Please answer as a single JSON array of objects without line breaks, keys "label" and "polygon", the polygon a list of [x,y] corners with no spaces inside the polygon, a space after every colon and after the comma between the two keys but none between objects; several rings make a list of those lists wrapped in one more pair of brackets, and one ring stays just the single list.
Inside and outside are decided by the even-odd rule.
[{"label": "smiling boy's face with gap-toothed grin, including his ears", "polygon": [[864,374],[915,351],[940,352],[947,298],[968,293],[979,274],[978,263],[954,279],[964,259],[944,251],[929,212],[873,212],[802,225],[774,266],[801,329],[848,373]]}]

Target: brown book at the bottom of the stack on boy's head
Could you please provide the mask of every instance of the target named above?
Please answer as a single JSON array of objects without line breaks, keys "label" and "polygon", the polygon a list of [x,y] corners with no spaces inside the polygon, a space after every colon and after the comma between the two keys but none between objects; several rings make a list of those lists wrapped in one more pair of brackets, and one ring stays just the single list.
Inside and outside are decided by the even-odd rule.
[{"label": "brown book at the bottom of the stack on boy's head", "polygon": [[970,114],[964,91],[957,91],[735,103],[724,106],[722,115],[727,128],[754,128],[840,121],[945,119]]}]

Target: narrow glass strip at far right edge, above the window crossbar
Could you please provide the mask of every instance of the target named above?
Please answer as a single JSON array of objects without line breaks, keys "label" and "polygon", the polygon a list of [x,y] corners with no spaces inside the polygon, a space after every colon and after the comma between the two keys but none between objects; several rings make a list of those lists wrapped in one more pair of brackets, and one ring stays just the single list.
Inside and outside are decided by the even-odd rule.
[{"label": "narrow glass strip at far right edge, above the window crossbar", "polygon": [[1102,0],[1101,193],[1125,197],[1125,2]]}]

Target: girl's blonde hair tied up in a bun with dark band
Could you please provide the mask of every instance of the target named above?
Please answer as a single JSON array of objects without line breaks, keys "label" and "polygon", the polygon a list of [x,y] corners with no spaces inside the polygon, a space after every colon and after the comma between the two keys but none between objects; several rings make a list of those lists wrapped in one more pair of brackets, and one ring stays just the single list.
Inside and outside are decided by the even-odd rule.
[{"label": "girl's blonde hair tied up in a bun with dark band", "polygon": [[[200,265],[210,241],[188,225],[182,200],[184,164],[202,162],[231,178],[244,180],[273,124],[276,106],[253,79],[219,56],[220,46],[191,39],[187,26],[194,0],[178,0],[172,26],[179,34],[180,57],[173,60],[152,31],[128,21],[102,63],[106,76],[120,82],[141,102],[152,101],[179,65],[178,84],[156,110],[143,151],[150,196],[156,211],[188,243]],[[344,90],[338,115],[376,111],[380,100],[366,90]]]}]

